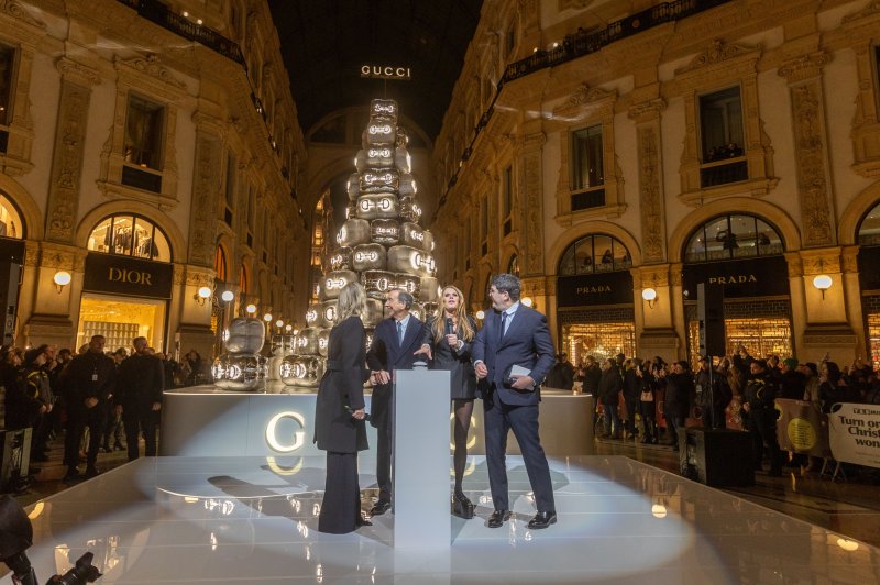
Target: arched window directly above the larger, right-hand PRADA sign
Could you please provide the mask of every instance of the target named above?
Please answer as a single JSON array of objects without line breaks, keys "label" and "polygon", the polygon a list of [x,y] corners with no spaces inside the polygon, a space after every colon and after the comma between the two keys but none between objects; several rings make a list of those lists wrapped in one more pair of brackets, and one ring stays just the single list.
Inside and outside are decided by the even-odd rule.
[{"label": "arched window directly above the larger, right-hand PRADA sign", "polygon": [[684,249],[684,262],[773,256],[784,251],[779,232],[765,220],[755,216],[727,214],[694,230]]}]

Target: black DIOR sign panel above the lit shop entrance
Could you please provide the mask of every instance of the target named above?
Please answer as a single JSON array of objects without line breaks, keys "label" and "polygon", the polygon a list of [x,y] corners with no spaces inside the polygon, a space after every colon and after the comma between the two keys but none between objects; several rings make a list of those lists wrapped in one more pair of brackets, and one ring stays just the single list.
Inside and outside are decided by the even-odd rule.
[{"label": "black DIOR sign panel above the lit shop entrance", "polygon": [[172,298],[174,265],[129,256],[90,253],[86,256],[84,290],[128,297]]}]

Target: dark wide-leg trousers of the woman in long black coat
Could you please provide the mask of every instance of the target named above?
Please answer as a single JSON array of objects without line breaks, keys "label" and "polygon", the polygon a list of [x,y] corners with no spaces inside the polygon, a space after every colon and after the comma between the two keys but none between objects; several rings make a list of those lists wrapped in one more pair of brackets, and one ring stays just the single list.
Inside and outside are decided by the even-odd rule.
[{"label": "dark wide-leg trousers of the woman in long black coat", "polygon": [[361,486],[358,484],[358,453],[327,452],[327,483],[323,489],[318,531],[345,534],[361,518]]}]

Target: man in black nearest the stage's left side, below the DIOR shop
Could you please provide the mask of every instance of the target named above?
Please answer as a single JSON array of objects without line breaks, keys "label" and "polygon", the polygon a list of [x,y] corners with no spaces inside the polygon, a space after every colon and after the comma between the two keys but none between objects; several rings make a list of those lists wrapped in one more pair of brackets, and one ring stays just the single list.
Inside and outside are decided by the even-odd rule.
[{"label": "man in black nearest the stage's left side, below the DIOR shop", "polygon": [[146,338],[132,341],[134,353],[119,366],[119,384],[113,396],[117,416],[122,417],[129,461],[139,455],[138,437],[143,432],[147,457],[156,455],[156,428],[165,390],[165,368],[162,360],[152,355]]}]

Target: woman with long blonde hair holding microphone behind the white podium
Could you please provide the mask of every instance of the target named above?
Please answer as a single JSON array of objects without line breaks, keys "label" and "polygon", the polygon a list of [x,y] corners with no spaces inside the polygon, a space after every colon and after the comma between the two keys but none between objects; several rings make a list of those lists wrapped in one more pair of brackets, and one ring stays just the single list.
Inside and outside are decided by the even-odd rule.
[{"label": "woman with long blonde hair holding microphone behind the white podium", "polygon": [[476,335],[476,323],[468,314],[464,295],[454,286],[447,286],[437,313],[425,324],[421,349],[432,360],[432,369],[448,369],[451,397],[455,407],[455,453],[452,457],[455,470],[455,490],[452,496],[452,512],[462,518],[473,518],[474,505],[462,490],[464,465],[468,462],[468,430],[474,411],[476,375],[471,363],[471,343]]}]

